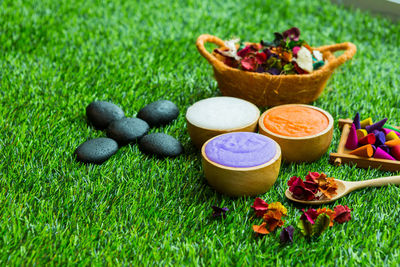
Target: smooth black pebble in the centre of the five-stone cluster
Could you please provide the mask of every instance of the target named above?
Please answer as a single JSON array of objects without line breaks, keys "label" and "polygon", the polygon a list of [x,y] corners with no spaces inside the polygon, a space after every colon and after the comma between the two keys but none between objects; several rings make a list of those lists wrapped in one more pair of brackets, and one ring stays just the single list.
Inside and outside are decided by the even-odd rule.
[{"label": "smooth black pebble in the centre of the five-stone cluster", "polygon": [[144,120],[138,118],[123,118],[113,121],[107,128],[107,136],[124,146],[136,142],[149,131],[150,127]]}]

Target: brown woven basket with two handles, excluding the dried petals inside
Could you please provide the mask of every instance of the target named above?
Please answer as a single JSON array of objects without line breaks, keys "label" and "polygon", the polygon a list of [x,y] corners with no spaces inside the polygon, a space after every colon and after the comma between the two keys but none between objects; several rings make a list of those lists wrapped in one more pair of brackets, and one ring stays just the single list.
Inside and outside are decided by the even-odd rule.
[{"label": "brown woven basket with two handles, excluding the dried petals inside", "polygon": [[[204,43],[207,42],[223,48],[224,41],[218,37],[203,34],[197,38],[196,42],[200,54],[213,66],[214,76],[221,93],[225,96],[245,99],[260,107],[292,103],[308,104],[316,100],[324,90],[332,72],[351,59],[357,50],[356,46],[349,42],[321,46],[316,49],[323,54],[328,63],[320,69],[303,75],[269,75],[234,69],[225,65],[206,50]],[[339,50],[344,50],[344,53],[335,57],[333,53]]]}]

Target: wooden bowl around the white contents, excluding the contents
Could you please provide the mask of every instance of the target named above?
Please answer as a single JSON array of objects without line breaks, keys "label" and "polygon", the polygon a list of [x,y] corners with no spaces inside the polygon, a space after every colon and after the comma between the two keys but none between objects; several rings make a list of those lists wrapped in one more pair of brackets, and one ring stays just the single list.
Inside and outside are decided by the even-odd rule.
[{"label": "wooden bowl around the white contents, excluding the contents", "polygon": [[[260,111],[256,105],[254,105],[246,100],[233,98],[233,97],[213,97],[212,99],[215,99],[215,98],[237,99],[237,100],[246,102],[249,105],[249,107],[252,107],[252,108],[254,108],[254,110],[258,111],[258,115],[254,118],[254,120],[251,120],[248,124],[240,126],[240,127],[220,128],[220,129],[217,129],[216,127],[206,128],[206,127],[201,127],[199,125],[195,125],[188,119],[188,112],[191,108],[191,107],[189,107],[186,112],[187,129],[189,132],[190,139],[192,140],[192,143],[198,149],[201,149],[201,146],[204,144],[204,142],[206,142],[210,138],[220,135],[220,134],[230,133],[230,132],[256,132],[257,131],[257,123],[258,123],[258,118],[260,117]],[[208,99],[211,99],[211,98],[208,98]],[[208,100],[208,99],[203,99],[201,101]],[[199,101],[199,102],[201,102],[201,101]],[[199,102],[196,102],[194,105],[196,105]]]}]

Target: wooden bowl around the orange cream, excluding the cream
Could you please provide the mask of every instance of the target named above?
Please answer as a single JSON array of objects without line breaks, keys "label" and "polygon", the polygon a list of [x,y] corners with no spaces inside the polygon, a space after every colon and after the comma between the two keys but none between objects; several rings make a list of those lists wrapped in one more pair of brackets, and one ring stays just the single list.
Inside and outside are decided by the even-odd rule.
[{"label": "wooden bowl around the orange cream, excluding the cream", "polygon": [[[304,137],[290,137],[268,130],[264,125],[264,117],[273,109],[285,106],[304,106],[315,109],[328,118],[328,126],[321,132]],[[312,162],[321,158],[329,148],[333,136],[333,118],[323,109],[302,104],[289,104],[271,108],[265,111],[258,120],[260,134],[274,139],[282,149],[282,157],[286,162]]]}]

